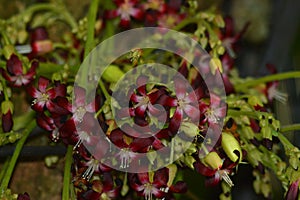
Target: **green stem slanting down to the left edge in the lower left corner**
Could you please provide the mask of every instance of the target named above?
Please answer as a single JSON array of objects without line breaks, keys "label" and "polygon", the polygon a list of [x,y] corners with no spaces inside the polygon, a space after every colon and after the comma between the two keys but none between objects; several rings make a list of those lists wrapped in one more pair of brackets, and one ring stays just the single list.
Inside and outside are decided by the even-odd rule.
[{"label": "green stem slanting down to the left edge in the lower left corner", "polygon": [[15,169],[16,162],[17,162],[18,157],[20,155],[20,152],[21,152],[21,150],[22,150],[22,148],[24,146],[24,143],[25,143],[27,137],[30,135],[31,131],[35,127],[36,127],[36,122],[35,122],[35,120],[32,120],[28,124],[27,128],[24,130],[22,138],[17,142],[16,149],[14,151],[14,154],[11,157],[11,160],[9,162],[9,166],[8,166],[8,168],[6,170],[6,173],[5,173],[4,177],[3,177],[3,180],[1,182],[0,192],[5,191],[7,189],[9,181],[10,181],[11,176],[13,174],[13,171]]}]

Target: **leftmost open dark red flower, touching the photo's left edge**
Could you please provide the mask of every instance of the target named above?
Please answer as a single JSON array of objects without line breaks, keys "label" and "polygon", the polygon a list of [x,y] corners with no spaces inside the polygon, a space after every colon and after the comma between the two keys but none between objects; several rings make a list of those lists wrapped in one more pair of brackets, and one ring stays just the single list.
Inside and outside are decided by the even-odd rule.
[{"label": "leftmost open dark red flower, touching the photo's left edge", "polygon": [[6,62],[6,70],[0,68],[2,76],[15,87],[28,85],[34,78],[38,62],[33,61],[28,70],[23,66],[21,60],[15,54],[12,54]]}]

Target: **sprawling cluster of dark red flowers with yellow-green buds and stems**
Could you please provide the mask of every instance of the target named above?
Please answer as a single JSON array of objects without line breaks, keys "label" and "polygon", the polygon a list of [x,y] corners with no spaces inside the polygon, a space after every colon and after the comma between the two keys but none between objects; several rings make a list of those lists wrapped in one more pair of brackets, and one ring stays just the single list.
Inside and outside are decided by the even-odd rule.
[{"label": "sprawling cluster of dark red flowers with yellow-green buds and stems", "polygon": [[[52,40],[43,23],[33,26],[39,9],[49,9],[52,15],[45,16],[59,13],[57,18],[71,27],[61,41]],[[243,79],[235,69],[238,41],[247,25],[235,33],[231,18],[200,11],[195,1],[182,0],[114,0],[101,5],[94,0],[88,17],[77,23],[62,4],[37,4],[14,18],[28,25],[30,37],[17,42],[0,31],[0,146],[20,142],[18,156],[27,133],[36,125],[49,133],[51,142],[66,145],[70,149],[66,163],[72,167],[65,171],[65,199],[69,190],[81,200],[176,199],[188,191],[185,170],[202,175],[208,187],[222,184],[220,198],[229,199],[231,188],[238,184],[231,176],[241,163],[252,166],[258,194],[272,198],[269,179],[274,173],[286,198],[297,198],[300,151],[283,135],[271,112],[275,100],[285,102],[286,98],[277,89],[280,74],[276,77],[275,67],[268,65],[274,79]],[[0,21],[0,29],[25,31],[14,23]],[[123,30],[150,26],[189,35],[207,55],[188,52],[187,57],[198,61],[199,66],[193,66],[188,59],[161,50],[133,49],[113,61],[100,79],[92,71],[84,72],[89,77],[85,82],[99,85],[93,93],[89,86],[74,84],[85,78],[78,77],[77,71],[96,42]],[[30,52],[17,48],[25,42]],[[173,38],[173,42],[184,41]],[[153,65],[154,60],[175,75]],[[132,83],[118,90],[117,82],[129,72]],[[224,85],[226,99],[219,88],[208,86],[216,74],[221,78],[216,87]],[[299,73],[284,77],[295,76]],[[158,79],[153,77],[162,81],[155,82]],[[26,105],[25,114],[15,109],[21,103]],[[278,156],[280,148],[288,161]],[[9,167],[14,166],[9,162]],[[141,171],[130,170],[133,166]],[[0,177],[0,198],[30,199],[27,193],[11,195],[10,176]],[[69,181],[74,187],[69,188]]]}]

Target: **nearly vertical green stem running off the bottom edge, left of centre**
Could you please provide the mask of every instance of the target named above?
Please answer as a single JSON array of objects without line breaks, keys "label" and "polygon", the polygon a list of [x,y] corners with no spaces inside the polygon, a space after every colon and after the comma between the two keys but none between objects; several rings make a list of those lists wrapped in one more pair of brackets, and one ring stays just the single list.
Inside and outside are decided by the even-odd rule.
[{"label": "nearly vertical green stem running off the bottom edge, left of centre", "polygon": [[66,158],[65,158],[66,162],[65,162],[65,169],[64,169],[64,185],[62,191],[62,200],[69,200],[69,196],[70,196],[72,154],[73,154],[73,147],[69,145],[66,153]]}]

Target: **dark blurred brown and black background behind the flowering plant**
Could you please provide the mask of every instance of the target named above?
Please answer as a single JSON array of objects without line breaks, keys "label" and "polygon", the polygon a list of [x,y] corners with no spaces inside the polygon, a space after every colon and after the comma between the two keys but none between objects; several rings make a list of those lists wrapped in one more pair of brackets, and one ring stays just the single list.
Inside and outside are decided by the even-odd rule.
[{"label": "dark blurred brown and black background behind the flowering plant", "polygon": [[[8,18],[26,6],[42,2],[38,0],[0,0],[0,18]],[[86,15],[90,1],[64,0],[73,15],[80,19]],[[300,70],[300,1],[299,0],[198,0],[200,8],[215,6],[223,16],[234,19],[235,30],[240,31],[250,23],[240,42],[237,52],[237,67],[242,77],[260,77],[268,74],[267,63],[274,64],[278,72]],[[57,30],[53,37],[59,36]],[[287,80],[280,83],[280,89],[288,94],[286,104],[275,103],[277,118],[282,125],[300,123],[300,80]],[[34,136],[33,136],[34,137]],[[289,139],[300,147],[300,132],[289,133]],[[47,138],[45,136],[45,143]],[[31,145],[41,141],[31,141]],[[60,154],[63,155],[62,148]],[[30,154],[29,154],[30,155]],[[0,161],[3,157],[0,157]],[[45,168],[40,159],[25,159],[17,167],[12,189],[15,192],[28,192],[32,199],[60,199],[63,172],[63,159],[53,168]],[[185,174],[191,193],[183,199],[218,199],[220,188],[205,188],[203,177],[196,173]],[[273,179],[272,179],[273,180]],[[239,168],[233,182],[233,199],[263,199],[252,189],[251,168]],[[53,186],[54,185],[54,186]],[[276,179],[273,183],[273,198],[281,199],[282,189]],[[50,197],[50,198],[49,198]]]}]

